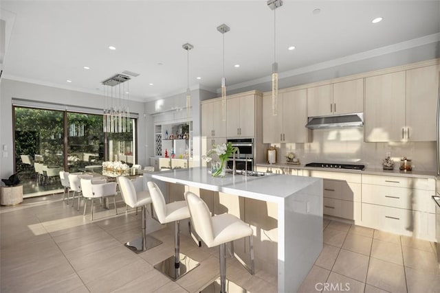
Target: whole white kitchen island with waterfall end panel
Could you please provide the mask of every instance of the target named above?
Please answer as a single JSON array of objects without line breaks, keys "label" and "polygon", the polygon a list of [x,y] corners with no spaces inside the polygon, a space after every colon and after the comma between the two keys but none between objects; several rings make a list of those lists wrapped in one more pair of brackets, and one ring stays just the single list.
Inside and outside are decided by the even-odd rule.
[{"label": "whole white kitchen island with waterfall end panel", "polygon": [[[278,292],[296,292],[322,250],[320,178],[281,174],[259,177],[228,174],[224,178],[213,178],[205,167],[175,169],[151,174],[151,177],[166,183],[275,204],[276,238],[272,239],[272,244],[276,244],[276,259],[272,261],[276,263],[278,270]],[[256,231],[258,214],[255,216],[254,213],[252,221],[247,221],[244,215],[240,218],[250,222],[254,228],[254,238],[262,236]],[[263,213],[260,216],[267,218]],[[258,242],[259,239],[256,240]],[[259,253],[256,248],[256,257]]]}]

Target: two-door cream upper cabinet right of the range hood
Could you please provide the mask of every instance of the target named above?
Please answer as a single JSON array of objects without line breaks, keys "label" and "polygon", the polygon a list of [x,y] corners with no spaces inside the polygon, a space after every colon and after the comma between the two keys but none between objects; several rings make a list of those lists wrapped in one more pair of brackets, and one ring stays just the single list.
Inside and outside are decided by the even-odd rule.
[{"label": "two-door cream upper cabinet right of the range hood", "polygon": [[435,141],[439,65],[365,80],[365,141]]}]

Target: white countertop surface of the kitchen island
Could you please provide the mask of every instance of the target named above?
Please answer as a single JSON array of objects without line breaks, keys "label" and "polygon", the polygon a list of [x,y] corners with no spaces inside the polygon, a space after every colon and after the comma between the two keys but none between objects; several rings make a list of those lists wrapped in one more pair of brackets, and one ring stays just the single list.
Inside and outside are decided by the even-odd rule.
[{"label": "white countertop surface of the kitchen island", "polygon": [[151,177],[169,183],[190,185],[268,202],[279,202],[307,185],[316,182],[316,180],[320,180],[319,178],[282,174],[268,174],[258,177],[227,174],[227,176],[219,178],[212,177],[206,167],[174,169],[152,174]]}]

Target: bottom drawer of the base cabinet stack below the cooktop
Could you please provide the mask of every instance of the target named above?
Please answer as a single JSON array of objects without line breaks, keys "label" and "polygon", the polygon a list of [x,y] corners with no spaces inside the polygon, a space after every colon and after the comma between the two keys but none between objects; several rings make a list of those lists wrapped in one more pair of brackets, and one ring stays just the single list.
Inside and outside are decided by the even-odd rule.
[{"label": "bottom drawer of the base cabinet stack below the cooktop", "polygon": [[349,220],[360,220],[360,202],[336,200],[334,198],[323,198],[322,202],[325,215],[333,215]]}]

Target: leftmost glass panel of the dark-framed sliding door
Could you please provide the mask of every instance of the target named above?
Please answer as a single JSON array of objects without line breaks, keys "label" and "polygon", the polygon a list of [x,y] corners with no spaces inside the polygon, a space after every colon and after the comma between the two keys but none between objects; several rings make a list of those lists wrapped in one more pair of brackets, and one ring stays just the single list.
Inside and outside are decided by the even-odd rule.
[{"label": "leftmost glass panel of the dark-framed sliding door", "polygon": [[23,194],[52,194],[61,189],[64,169],[64,113],[14,107],[16,171]]}]

